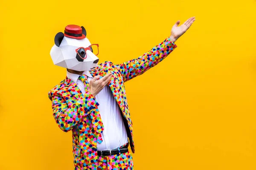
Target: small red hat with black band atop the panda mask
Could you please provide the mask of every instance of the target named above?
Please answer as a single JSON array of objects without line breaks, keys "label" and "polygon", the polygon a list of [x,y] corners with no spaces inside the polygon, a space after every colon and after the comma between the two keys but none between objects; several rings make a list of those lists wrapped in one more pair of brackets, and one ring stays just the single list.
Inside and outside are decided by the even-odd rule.
[{"label": "small red hat with black band atop the panda mask", "polygon": [[75,39],[84,39],[86,37],[86,31],[83,26],[68,25],[65,27],[64,36]]}]

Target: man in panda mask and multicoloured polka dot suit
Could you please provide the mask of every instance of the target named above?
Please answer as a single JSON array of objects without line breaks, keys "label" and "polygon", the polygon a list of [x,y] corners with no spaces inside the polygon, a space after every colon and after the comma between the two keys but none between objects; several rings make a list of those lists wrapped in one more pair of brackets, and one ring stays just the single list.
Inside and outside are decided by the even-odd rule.
[{"label": "man in panda mask and multicoloured polka dot suit", "polygon": [[99,59],[84,27],[69,25],[55,36],[51,57],[67,68],[67,77],[49,91],[53,116],[64,132],[72,131],[75,170],[133,170],[132,122],[124,82],[157,65],[176,47],[175,41],[195,21],[172,27],[170,37],[143,56],[115,65]]}]

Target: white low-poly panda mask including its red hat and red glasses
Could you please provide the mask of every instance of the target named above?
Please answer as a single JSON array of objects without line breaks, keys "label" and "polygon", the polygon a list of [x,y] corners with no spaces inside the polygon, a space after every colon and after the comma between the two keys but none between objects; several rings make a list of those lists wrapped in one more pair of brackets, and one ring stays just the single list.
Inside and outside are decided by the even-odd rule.
[{"label": "white low-poly panda mask including its red hat and red glasses", "polygon": [[83,26],[68,25],[55,35],[50,55],[54,65],[75,71],[89,71],[99,62],[99,45],[91,44]]}]

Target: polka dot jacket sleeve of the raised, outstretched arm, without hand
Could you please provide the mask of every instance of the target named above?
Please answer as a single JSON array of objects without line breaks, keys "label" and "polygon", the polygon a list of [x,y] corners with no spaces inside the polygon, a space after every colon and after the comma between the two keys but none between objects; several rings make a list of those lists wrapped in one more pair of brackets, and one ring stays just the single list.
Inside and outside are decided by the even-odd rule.
[{"label": "polka dot jacket sleeve of the raised, outstretched arm, without hand", "polygon": [[163,42],[153,47],[150,51],[146,52],[143,56],[137,59],[132,59],[130,61],[124,62],[122,64],[116,65],[122,74],[123,81],[126,82],[139,76],[149,68],[154,67],[163,59],[165,59],[177,45],[173,43],[170,38],[166,38]]}]

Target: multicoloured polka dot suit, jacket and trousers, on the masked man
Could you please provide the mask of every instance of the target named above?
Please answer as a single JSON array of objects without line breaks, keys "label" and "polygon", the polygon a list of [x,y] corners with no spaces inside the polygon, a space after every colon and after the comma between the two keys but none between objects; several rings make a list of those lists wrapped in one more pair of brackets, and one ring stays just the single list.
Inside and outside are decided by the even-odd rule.
[{"label": "multicoloured polka dot suit, jacket and trousers, on the masked man", "polygon": [[[124,118],[127,120],[129,129],[127,133],[133,153],[135,152],[133,129],[124,82],[143,74],[149,68],[157,65],[176,47],[167,38],[137,59],[124,62],[121,65],[114,65],[112,62],[106,61],[90,71],[93,77],[99,75],[100,78],[108,73],[113,74],[108,85]],[[125,167],[126,165],[123,165],[123,161],[120,158],[116,158],[116,156],[112,156],[114,158],[112,159],[114,160],[112,164],[108,161],[104,162],[105,158],[98,158],[97,140],[100,142],[100,136],[98,135],[100,133],[97,130],[101,131],[104,128],[97,108],[99,103],[96,102],[91,94],[86,93],[83,95],[78,86],[66,77],[66,79],[49,92],[49,99],[52,100],[53,116],[58,126],[65,132],[72,130],[75,170],[97,170],[97,168],[102,170],[106,165],[114,170],[123,170],[124,168],[127,170],[128,167],[132,166],[131,156],[128,153],[121,154],[124,156],[122,159],[126,160],[125,164],[129,164],[128,167]],[[99,122],[99,126],[96,126],[97,122]],[[119,163],[117,160],[119,160]],[[102,167],[100,167],[101,165]]]}]

